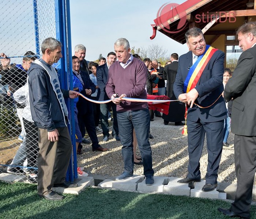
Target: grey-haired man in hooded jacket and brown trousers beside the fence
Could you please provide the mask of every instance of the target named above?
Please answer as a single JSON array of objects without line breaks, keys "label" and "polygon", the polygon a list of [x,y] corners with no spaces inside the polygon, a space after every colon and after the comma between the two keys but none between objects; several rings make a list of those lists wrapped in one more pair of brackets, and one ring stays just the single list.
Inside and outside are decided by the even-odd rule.
[{"label": "grey-haired man in hooded jacket and brown trousers beside the fence", "polygon": [[76,91],[61,91],[53,64],[62,57],[61,42],[47,38],[42,42],[42,58],[35,60],[27,72],[32,119],[38,127],[38,195],[49,200],[64,196],[53,187],[73,188],[65,181],[72,144],[67,127],[68,110],[64,97],[76,98]]}]

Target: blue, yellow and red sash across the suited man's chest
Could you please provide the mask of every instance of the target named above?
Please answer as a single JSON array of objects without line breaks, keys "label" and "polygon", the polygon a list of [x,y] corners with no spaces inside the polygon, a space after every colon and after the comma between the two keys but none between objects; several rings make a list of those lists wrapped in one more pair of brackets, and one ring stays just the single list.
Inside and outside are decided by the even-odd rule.
[{"label": "blue, yellow and red sash across the suited man's chest", "polygon": [[184,92],[188,93],[193,88],[196,87],[197,82],[199,81],[206,65],[210,61],[212,55],[217,51],[209,45],[206,45],[206,50],[202,55],[198,57],[196,62],[189,69],[188,75],[184,81]]}]

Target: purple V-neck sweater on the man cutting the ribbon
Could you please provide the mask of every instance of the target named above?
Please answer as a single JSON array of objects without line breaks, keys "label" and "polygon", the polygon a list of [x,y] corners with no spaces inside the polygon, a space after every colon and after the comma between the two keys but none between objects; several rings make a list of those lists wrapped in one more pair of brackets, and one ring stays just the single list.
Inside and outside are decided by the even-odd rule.
[{"label": "purple V-neck sweater on the man cutting the ribbon", "polygon": [[[109,98],[115,93],[119,96],[123,93],[127,97],[147,99],[145,90],[147,81],[147,68],[144,62],[133,58],[132,62],[124,69],[117,61],[109,68],[106,94]],[[117,111],[141,110],[147,103],[123,101],[117,105]]]}]

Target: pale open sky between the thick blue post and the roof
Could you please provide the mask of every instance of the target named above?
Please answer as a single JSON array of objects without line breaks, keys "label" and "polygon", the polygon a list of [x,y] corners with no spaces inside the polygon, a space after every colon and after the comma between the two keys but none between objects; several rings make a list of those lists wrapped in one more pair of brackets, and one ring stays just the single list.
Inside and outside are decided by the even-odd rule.
[{"label": "pale open sky between the thick blue post and the roof", "polygon": [[[181,4],[184,0],[176,0]],[[171,53],[187,53],[187,45],[182,45],[157,31],[151,40],[157,12],[168,0],[70,0],[72,55],[77,44],[86,47],[86,60],[95,61],[99,54],[106,58],[114,50],[118,38],[126,38],[130,47],[147,48],[158,44]]]}]

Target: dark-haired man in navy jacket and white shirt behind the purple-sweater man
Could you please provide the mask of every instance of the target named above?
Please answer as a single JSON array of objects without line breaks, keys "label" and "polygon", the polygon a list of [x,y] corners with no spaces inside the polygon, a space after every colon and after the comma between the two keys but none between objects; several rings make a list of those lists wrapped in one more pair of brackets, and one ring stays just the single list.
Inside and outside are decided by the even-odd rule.
[{"label": "dark-haired man in navy jacket and white shirt behind the purple-sweater man", "polygon": [[[108,80],[109,67],[114,62],[116,62],[116,53],[110,52],[107,56],[107,62],[104,65],[101,65],[97,68],[97,84],[99,89],[101,90],[99,101],[109,100],[109,97],[106,95],[105,87]],[[109,140],[109,122],[108,122],[108,112],[109,108],[112,107],[113,112],[113,128],[112,128],[112,136],[116,139],[116,141],[120,141],[119,131],[118,131],[118,123],[116,117],[116,104],[113,102],[102,103],[101,107],[101,128],[103,132],[103,141]]]}]

